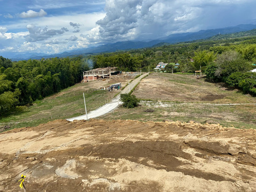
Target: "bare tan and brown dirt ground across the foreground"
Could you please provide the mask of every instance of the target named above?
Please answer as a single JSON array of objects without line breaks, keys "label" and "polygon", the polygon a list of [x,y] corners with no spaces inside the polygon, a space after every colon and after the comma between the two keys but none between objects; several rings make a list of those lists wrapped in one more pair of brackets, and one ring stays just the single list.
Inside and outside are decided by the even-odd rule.
[{"label": "bare tan and brown dirt ground across the foreground", "polygon": [[0,134],[0,191],[256,191],[256,131],[55,120]]}]

